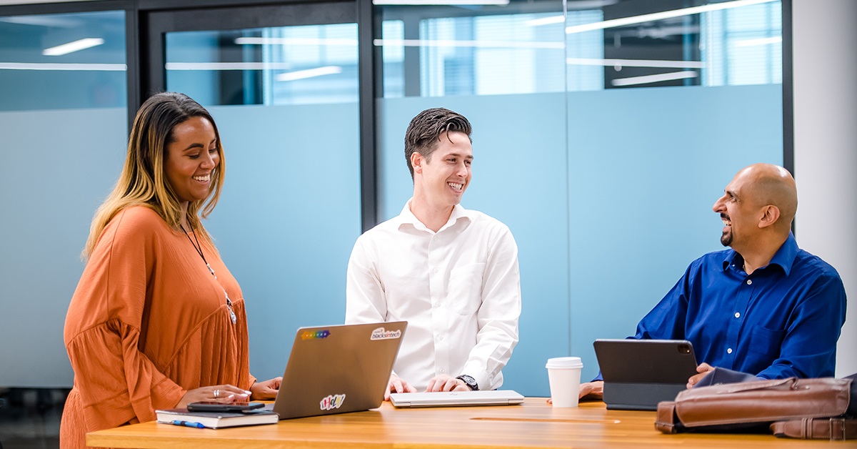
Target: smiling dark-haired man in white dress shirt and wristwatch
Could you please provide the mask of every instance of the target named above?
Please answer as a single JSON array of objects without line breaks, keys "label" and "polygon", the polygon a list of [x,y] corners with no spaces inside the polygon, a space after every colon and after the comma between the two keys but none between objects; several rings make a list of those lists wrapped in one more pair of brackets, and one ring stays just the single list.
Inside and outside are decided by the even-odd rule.
[{"label": "smiling dark-haired man in white dress shirt and wristwatch", "polygon": [[357,239],[345,323],[406,320],[391,391],[494,390],[518,343],[518,246],[500,221],[458,203],[470,185],[470,122],[436,108],[405,133],[414,195]]}]

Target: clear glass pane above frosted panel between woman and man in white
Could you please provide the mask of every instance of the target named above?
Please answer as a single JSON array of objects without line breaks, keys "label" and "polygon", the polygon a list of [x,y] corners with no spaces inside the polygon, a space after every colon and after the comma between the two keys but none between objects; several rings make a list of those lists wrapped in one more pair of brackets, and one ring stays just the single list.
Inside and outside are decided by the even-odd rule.
[{"label": "clear glass pane above frosted panel between woman and man in white", "polygon": [[202,105],[357,102],[357,24],[166,34],[166,86]]}]

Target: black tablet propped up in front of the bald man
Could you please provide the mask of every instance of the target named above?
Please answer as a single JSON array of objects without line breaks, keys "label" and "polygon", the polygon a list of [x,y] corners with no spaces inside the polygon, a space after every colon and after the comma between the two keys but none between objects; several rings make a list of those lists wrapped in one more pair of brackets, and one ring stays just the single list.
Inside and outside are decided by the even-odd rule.
[{"label": "black tablet propped up in front of the bald man", "polygon": [[693,345],[686,340],[599,339],[593,346],[608,410],[657,410],[657,403],[672,401],[697,373]]}]

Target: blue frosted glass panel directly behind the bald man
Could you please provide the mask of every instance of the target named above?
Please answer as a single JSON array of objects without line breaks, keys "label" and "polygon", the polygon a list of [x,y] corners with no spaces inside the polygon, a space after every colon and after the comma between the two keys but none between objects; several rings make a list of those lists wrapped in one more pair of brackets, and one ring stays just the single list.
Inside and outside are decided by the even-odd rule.
[{"label": "blue frosted glass panel directly behind the bald man", "polygon": [[719,251],[711,207],[742,167],[782,165],[782,88],[568,94],[572,355],[634,334],[692,260]]}]

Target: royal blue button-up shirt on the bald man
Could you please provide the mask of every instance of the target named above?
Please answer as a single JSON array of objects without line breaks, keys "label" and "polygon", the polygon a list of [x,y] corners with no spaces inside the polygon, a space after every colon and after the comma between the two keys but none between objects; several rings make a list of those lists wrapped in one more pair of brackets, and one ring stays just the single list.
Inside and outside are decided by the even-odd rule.
[{"label": "royal blue button-up shirt on the bald man", "polygon": [[789,234],[749,276],[732,249],[693,261],[634,338],[688,340],[698,363],[763,379],[832,377],[844,322],[839,273]]}]

